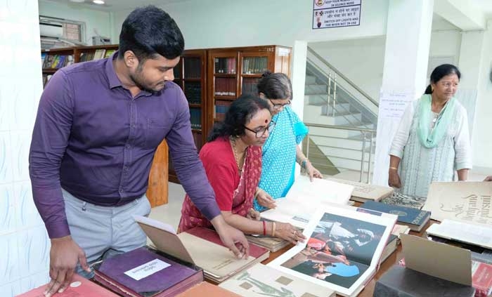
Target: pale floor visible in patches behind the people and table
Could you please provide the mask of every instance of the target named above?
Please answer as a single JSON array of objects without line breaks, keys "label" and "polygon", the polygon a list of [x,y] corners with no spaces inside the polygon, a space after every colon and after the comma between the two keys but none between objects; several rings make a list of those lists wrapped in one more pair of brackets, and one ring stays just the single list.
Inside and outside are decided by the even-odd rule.
[{"label": "pale floor visible in patches behind the people and table", "polygon": [[[491,171],[492,174],[492,171]],[[349,174],[344,172],[343,176],[337,176],[338,178],[344,178],[348,180],[358,180],[358,173]],[[484,180],[486,176],[483,174],[475,174],[470,172],[468,180]],[[181,205],[183,204],[183,199],[185,196],[185,191],[181,185],[176,183],[169,183],[169,199],[168,203],[157,206],[150,212],[150,218],[155,220],[160,220],[164,223],[172,225],[175,230],[178,228],[179,218],[181,217]]]}]

